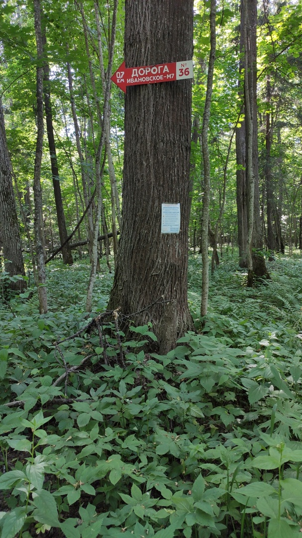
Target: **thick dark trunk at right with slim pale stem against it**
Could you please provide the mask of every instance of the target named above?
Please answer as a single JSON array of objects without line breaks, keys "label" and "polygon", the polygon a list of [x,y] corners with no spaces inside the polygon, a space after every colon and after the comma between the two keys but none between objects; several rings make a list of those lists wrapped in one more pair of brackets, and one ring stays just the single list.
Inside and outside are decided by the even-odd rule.
[{"label": "thick dark trunk at right with slim pale stem against it", "polygon": [[[269,278],[262,254],[257,129],[257,0],[241,0],[240,50],[243,65],[244,126],[236,133],[240,265],[253,277]],[[242,90],[240,89],[240,95]],[[243,130],[244,129],[244,130]]]}]

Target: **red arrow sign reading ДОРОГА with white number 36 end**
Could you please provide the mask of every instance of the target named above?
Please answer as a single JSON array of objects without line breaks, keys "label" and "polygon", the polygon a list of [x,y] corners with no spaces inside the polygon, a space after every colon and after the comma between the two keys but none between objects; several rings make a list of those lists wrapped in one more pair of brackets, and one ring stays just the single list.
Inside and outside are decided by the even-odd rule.
[{"label": "red arrow sign reading \u0414\u041e\u0420\u041e\u0413\u0410 with white number 36 end", "polygon": [[153,66],[125,67],[123,62],[112,75],[111,80],[126,93],[127,86],[139,84],[154,84],[156,82],[171,82],[193,78],[193,62],[158,63]]}]

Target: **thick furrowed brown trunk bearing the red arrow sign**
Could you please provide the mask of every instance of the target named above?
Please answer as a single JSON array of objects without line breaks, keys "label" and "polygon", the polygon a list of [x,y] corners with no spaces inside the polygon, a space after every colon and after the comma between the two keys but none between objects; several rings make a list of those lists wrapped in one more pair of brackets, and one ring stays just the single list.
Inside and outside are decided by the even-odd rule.
[{"label": "thick furrowed brown trunk bearing the red arrow sign", "polygon": [[[155,39],[156,32],[156,39]],[[191,60],[193,0],[127,0],[126,67]],[[191,81],[127,89],[123,221],[109,308],[153,323],[159,351],[192,329],[187,266]],[[162,203],[181,204],[179,234],[161,234]]]}]

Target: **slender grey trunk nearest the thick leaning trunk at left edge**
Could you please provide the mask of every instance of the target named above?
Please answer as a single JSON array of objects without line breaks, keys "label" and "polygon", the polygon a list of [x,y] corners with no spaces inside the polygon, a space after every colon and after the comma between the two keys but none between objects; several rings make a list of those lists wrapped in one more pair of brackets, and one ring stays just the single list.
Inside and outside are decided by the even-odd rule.
[{"label": "slender grey trunk nearest the thick leaning trunk at left edge", "polygon": [[37,143],[35,146],[34,159],[34,238],[37,261],[38,276],[38,296],[40,314],[47,312],[47,293],[46,293],[46,271],[45,271],[45,246],[44,246],[44,224],[42,213],[42,191],[41,191],[41,162],[43,151],[43,45],[41,34],[41,6],[40,0],[34,0],[34,29],[35,39],[37,42]]}]

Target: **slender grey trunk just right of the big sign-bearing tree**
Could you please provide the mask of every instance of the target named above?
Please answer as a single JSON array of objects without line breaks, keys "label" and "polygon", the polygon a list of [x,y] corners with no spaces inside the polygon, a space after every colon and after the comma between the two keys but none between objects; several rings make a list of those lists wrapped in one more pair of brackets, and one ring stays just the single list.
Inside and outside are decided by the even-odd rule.
[{"label": "slender grey trunk just right of the big sign-bearing tree", "polygon": [[202,128],[202,152],[203,152],[203,166],[204,166],[204,196],[203,196],[203,220],[202,220],[202,302],[200,306],[200,315],[203,317],[207,314],[208,303],[208,216],[210,210],[210,184],[211,184],[211,168],[210,168],[210,155],[208,153],[208,139],[207,131],[208,124],[210,123],[210,109],[213,89],[213,73],[214,62],[216,53],[216,0],[211,0],[211,12],[210,12],[210,28],[211,28],[211,49],[210,58],[208,61],[208,73],[207,73],[207,88],[205,98],[205,109],[203,116],[203,128]]}]

